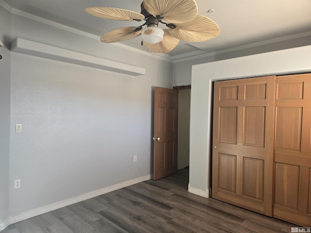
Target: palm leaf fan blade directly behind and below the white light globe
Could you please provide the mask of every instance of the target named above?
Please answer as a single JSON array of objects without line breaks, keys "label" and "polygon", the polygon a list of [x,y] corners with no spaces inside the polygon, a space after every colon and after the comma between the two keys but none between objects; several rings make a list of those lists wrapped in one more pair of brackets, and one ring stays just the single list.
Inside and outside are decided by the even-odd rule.
[{"label": "palm leaf fan blade directly behind and below the white light globe", "polygon": [[179,42],[179,39],[173,37],[168,29],[164,29],[163,40],[156,44],[150,44],[147,42],[143,42],[143,46],[150,52],[156,53],[166,53],[173,50]]}]

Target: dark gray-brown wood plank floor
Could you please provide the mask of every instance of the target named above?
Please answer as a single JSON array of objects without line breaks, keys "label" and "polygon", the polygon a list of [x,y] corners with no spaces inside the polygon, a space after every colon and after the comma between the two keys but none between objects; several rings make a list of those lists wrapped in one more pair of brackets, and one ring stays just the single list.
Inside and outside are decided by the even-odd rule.
[{"label": "dark gray-brown wood plank floor", "polygon": [[189,169],[17,222],[1,233],[291,233],[295,225],[187,191]]}]

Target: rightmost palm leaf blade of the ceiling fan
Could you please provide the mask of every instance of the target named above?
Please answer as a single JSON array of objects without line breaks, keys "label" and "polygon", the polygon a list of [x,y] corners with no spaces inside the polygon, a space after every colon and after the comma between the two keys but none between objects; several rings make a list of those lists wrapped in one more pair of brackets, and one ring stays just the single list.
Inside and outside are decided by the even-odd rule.
[{"label": "rightmost palm leaf blade of the ceiling fan", "polygon": [[176,24],[169,33],[187,42],[202,42],[216,37],[220,33],[218,25],[205,16],[197,15],[187,23]]}]

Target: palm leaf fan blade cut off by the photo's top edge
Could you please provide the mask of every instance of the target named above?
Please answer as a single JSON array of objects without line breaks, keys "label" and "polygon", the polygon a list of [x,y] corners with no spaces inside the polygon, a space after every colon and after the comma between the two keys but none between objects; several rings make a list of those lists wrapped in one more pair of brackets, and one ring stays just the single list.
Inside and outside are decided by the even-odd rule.
[{"label": "palm leaf fan blade cut off by the photo's top edge", "polygon": [[172,23],[190,21],[198,13],[194,0],[144,0],[143,5],[153,16],[164,17]]}]

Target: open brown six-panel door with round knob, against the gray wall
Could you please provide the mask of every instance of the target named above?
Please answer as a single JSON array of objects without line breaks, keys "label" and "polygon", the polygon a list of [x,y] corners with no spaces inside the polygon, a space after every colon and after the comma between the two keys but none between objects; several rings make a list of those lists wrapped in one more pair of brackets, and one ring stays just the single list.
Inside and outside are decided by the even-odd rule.
[{"label": "open brown six-panel door with round knob, against the gray wall", "polygon": [[154,180],[177,172],[178,91],[155,87]]}]

